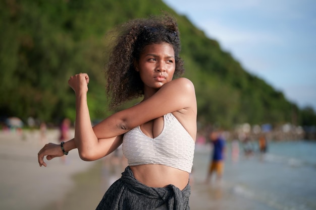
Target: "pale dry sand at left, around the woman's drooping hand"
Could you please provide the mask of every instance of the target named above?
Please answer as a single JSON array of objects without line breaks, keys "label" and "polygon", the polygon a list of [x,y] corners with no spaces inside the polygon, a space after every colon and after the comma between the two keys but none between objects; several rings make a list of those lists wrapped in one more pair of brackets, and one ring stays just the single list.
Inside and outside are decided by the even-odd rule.
[{"label": "pale dry sand at left, around the woman's drooping hand", "polygon": [[[57,143],[59,131],[49,130],[47,142]],[[47,203],[63,199],[75,185],[72,176],[94,163],[81,161],[73,151],[66,164],[60,159],[39,167],[37,152],[44,145],[39,132],[0,132],[0,209],[43,209]]]}]

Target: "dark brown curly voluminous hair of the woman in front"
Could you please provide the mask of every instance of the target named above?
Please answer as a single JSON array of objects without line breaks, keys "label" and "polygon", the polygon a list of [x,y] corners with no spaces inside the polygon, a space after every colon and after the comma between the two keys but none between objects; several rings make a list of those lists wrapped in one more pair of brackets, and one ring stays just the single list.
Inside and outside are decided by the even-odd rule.
[{"label": "dark brown curly voluminous hair of the woman in front", "polygon": [[111,32],[118,36],[112,43],[113,48],[106,66],[106,92],[111,99],[110,109],[144,94],[143,82],[133,63],[139,60],[146,45],[166,42],[173,46],[176,61],[174,77],[183,75],[183,60],[179,56],[179,29],[173,17],[165,15],[135,19]]}]

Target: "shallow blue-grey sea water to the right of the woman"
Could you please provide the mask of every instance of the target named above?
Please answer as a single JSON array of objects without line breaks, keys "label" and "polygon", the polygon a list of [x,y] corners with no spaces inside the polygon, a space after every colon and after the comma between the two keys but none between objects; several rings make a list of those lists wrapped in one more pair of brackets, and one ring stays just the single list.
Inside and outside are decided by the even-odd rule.
[{"label": "shallow blue-grey sea water to the right of the woman", "polygon": [[[245,156],[240,145],[238,161],[232,160],[231,145],[227,145],[221,196],[212,198],[217,192],[214,187],[200,185],[194,190],[193,185],[192,196],[198,197],[199,190],[207,189],[212,198],[207,202],[207,197],[200,194],[204,208],[194,209],[316,209],[316,142],[270,142],[266,154],[254,152],[251,156]],[[206,175],[210,152],[212,148],[196,149],[193,168],[200,183]]]}]

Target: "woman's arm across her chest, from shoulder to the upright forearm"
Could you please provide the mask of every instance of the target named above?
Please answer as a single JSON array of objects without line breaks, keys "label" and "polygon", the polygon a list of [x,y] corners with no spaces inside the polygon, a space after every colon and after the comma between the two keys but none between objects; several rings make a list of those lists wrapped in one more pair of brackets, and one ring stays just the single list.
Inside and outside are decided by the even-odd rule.
[{"label": "woman's arm across her chest, from shoulder to the upright forearm", "polygon": [[185,115],[191,117],[188,119],[192,119],[190,120],[192,125],[196,126],[195,90],[192,82],[186,78],[179,78],[165,84],[147,100],[109,116],[95,125],[93,130],[100,133],[100,137],[109,138],[175,111],[185,112]]}]

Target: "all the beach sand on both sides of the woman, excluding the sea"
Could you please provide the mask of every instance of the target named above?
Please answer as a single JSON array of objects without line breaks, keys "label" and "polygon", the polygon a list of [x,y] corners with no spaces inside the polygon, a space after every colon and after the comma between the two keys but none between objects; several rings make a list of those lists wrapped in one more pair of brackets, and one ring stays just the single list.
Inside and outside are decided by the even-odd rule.
[{"label": "all the beach sand on both sides of the woman, excluding the sea", "polygon": [[[47,142],[57,142],[58,130],[47,132]],[[37,152],[44,145],[39,132],[23,134],[0,132],[0,209],[95,209],[107,188],[120,177],[126,161],[112,156],[95,162],[80,160],[71,151],[66,162],[55,159],[46,168],[37,163]],[[205,185],[209,149],[201,148],[194,157],[190,206],[203,209],[267,209],[246,197],[237,196],[232,186]],[[229,164],[229,163],[228,163]],[[225,176],[236,170],[226,167]]]}]

